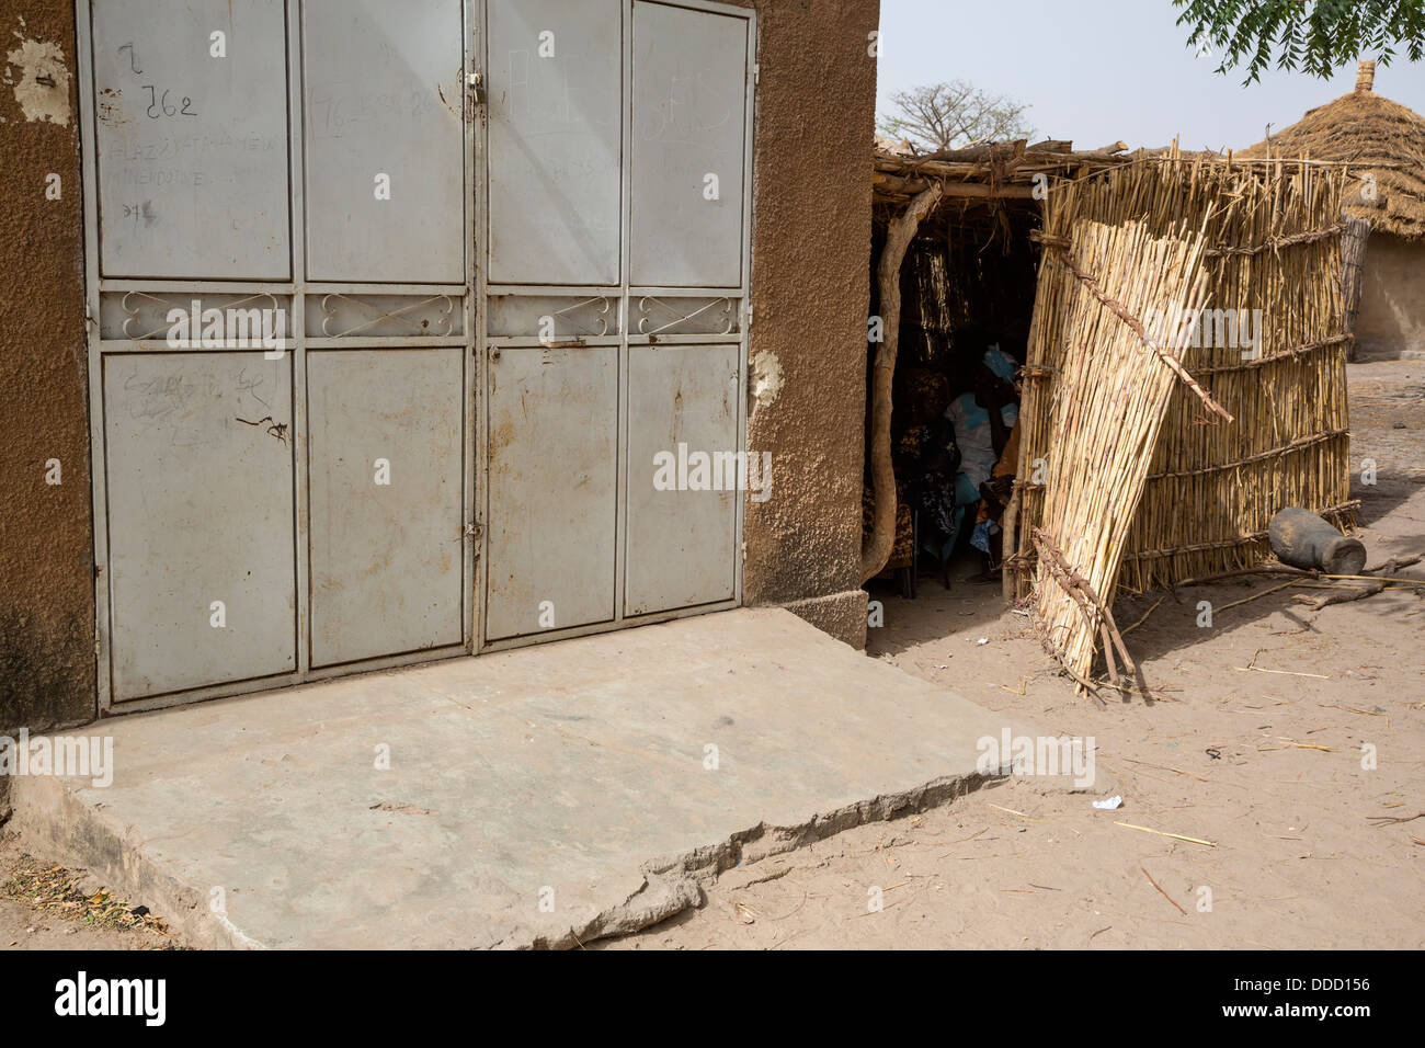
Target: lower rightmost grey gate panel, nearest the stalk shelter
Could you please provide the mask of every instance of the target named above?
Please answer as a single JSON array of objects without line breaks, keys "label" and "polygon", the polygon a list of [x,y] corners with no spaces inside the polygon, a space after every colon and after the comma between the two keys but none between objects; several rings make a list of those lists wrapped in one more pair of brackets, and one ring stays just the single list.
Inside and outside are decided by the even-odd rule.
[{"label": "lower rightmost grey gate panel, nearest the stalk shelter", "polygon": [[[732,599],[741,495],[717,466],[735,462],[737,396],[735,344],[630,346],[624,615]],[[708,483],[697,453],[714,461]],[[663,455],[693,462],[688,490],[660,490],[667,473],[656,485]]]}]

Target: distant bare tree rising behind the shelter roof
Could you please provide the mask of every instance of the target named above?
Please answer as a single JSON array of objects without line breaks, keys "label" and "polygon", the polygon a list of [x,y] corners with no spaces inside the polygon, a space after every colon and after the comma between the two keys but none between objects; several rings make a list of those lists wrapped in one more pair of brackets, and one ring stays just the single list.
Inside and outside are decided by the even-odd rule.
[{"label": "distant bare tree rising behind the shelter roof", "polygon": [[1025,120],[1029,106],[982,91],[968,80],[896,91],[891,103],[899,113],[881,120],[881,133],[905,138],[923,153],[1027,138],[1035,133]]}]

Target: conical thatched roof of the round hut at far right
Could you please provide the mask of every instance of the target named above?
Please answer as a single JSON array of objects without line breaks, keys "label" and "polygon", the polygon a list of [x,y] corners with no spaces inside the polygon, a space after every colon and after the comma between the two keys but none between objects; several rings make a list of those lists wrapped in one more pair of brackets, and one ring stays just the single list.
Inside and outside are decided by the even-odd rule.
[{"label": "conical thatched roof of the round hut at far right", "polygon": [[1362,198],[1367,183],[1361,183],[1347,198],[1347,214],[1365,218],[1374,230],[1425,240],[1425,117],[1378,96],[1374,78],[1375,63],[1362,61],[1351,94],[1237,155],[1310,157],[1374,174],[1375,200]]}]

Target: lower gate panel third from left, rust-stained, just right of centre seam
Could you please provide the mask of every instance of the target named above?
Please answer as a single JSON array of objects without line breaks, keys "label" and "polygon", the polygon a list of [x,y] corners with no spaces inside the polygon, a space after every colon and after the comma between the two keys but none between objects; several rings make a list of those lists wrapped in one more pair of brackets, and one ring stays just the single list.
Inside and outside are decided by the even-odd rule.
[{"label": "lower gate panel third from left, rust-stained, just right of centre seam", "polygon": [[618,348],[503,348],[489,384],[486,636],[610,620]]}]

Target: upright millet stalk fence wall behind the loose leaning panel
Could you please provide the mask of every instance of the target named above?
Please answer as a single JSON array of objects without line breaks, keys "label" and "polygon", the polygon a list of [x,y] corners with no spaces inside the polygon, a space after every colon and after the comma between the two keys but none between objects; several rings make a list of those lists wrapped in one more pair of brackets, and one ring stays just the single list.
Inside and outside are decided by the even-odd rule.
[{"label": "upright millet stalk fence wall behind the loose leaning panel", "polygon": [[[1141,221],[1154,237],[1203,230],[1207,322],[1183,365],[1234,418],[1178,384],[1123,549],[1133,590],[1250,567],[1270,556],[1271,515],[1305,506],[1354,523],[1349,499],[1341,191],[1348,173],[1308,161],[1151,158],[1062,183],[1046,201],[1047,250],[1025,368],[1017,593],[1029,590],[1045,466],[1064,439],[1049,409],[1070,346],[1059,278],[1079,220]],[[1059,250],[1054,245],[1060,245]],[[1204,331],[1206,329],[1206,331]],[[1112,593],[1102,593],[1112,603]]]}]

